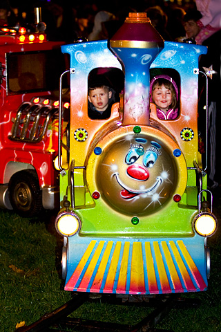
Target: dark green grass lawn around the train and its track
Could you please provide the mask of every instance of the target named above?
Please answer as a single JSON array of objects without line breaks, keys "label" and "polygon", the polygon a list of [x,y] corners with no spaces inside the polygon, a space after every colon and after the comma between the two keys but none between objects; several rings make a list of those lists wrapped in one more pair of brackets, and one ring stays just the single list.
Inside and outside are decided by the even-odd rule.
[{"label": "dark green grass lawn around the train and its track", "polygon": [[[216,202],[215,213],[221,208]],[[219,218],[220,219],[220,218]],[[53,216],[21,219],[11,211],[0,211],[0,331],[15,331],[19,322],[26,325],[58,308],[72,293],[61,288],[61,237],[54,228]],[[175,332],[221,332],[220,229],[209,239],[211,277],[205,293],[182,295],[200,299],[198,308],[172,310],[158,324],[158,329]],[[135,324],[146,315],[146,309],[114,306],[99,301],[86,302],[74,315],[82,319],[106,320]],[[77,331],[77,329],[75,330]]]}]

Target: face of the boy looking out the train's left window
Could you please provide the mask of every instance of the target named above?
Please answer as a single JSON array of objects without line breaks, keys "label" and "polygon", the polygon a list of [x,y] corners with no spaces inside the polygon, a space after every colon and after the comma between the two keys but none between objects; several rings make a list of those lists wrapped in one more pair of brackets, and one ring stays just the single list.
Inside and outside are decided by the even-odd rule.
[{"label": "face of the boy looking out the train's left window", "polygon": [[96,88],[89,91],[88,100],[92,102],[97,111],[105,111],[108,108],[112,92],[105,88]]}]

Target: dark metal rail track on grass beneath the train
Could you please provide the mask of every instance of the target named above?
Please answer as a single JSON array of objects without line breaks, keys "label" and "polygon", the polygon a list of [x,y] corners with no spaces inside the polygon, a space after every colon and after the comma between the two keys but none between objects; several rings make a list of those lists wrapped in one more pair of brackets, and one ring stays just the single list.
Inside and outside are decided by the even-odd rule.
[{"label": "dark metal rail track on grass beneath the train", "polygon": [[[68,317],[77,308],[84,304],[89,298],[88,293],[77,293],[73,299],[66,302],[63,306],[55,309],[51,313],[46,313],[37,322],[29,326],[22,326],[16,332],[66,332],[66,331],[90,331],[90,332],[174,332],[172,330],[155,329],[157,323],[171,311],[172,308],[189,308],[199,306],[200,302],[196,299],[180,299],[177,295],[167,297],[144,297],[140,302],[139,297],[131,297],[125,301],[125,297],[115,297],[115,295],[102,295],[99,302],[124,305],[124,306],[144,306],[154,308],[144,319],[134,325],[117,324],[111,322],[99,322],[95,320],[81,320],[79,318]],[[95,299],[96,301],[96,299]],[[133,307],[132,307],[133,308]],[[132,309],[133,310],[133,309]]]}]

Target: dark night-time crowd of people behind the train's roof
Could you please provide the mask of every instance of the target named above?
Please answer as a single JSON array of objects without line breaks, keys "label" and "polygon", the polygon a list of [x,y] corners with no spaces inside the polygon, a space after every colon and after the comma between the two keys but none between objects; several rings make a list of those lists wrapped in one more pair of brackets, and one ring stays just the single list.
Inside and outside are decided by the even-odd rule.
[{"label": "dark night-time crowd of people behind the train's roof", "polygon": [[[193,38],[197,44],[221,29],[221,1],[128,1],[123,5],[113,0],[67,1],[0,0],[0,25],[32,23],[34,8],[41,7],[42,21],[46,23],[49,40],[74,42],[81,37],[88,40],[108,39],[124,23],[128,12],[146,12],[151,24],[164,40],[182,41]],[[177,4],[179,3],[179,4]],[[182,39],[180,39],[182,38]]]}]

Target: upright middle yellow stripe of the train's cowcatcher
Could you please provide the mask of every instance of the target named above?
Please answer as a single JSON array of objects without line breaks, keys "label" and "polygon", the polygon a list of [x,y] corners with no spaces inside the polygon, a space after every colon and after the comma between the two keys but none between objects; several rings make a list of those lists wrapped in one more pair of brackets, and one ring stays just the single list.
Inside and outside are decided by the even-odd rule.
[{"label": "upright middle yellow stripe of the train's cowcatcher", "polygon": [[145,292],[142,243],[133,243],[130,291]]}]

